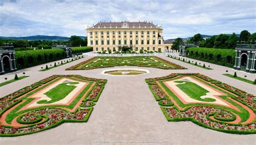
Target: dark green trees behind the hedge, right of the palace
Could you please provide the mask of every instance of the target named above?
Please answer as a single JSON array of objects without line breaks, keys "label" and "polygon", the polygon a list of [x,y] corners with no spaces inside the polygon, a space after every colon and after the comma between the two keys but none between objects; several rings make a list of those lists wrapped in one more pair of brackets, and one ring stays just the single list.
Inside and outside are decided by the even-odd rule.
[{"label": "dark green trees behind the hedge, right of the palace", "polygon": [[[256,33],[251,34],[247,30],[241,31],[240,36],[237,34],[220,34],[213,35],[206,40],[203,39],[201,34],[196,34],[191,39],[187,40],[187,44],[198,43],[199,47],[207,47],[207,48],[225,48],[225,49],[234,49],[237,46],[237,41],[242,41],[245,44],[255,43],[256,41]],[[181,38],[177,38],[176,41],[173,42],[173,49],[179,49],[179,44],[182,42]]]}]

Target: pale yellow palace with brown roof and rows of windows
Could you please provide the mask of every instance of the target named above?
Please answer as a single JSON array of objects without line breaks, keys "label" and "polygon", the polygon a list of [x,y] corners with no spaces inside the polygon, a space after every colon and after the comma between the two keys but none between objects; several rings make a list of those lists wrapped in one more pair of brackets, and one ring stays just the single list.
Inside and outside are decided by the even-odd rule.
[{"label": "pale yellow palace with brown roof and rows of windows", "polygon": [[87,46],[93,51],[121,50],[130,47],[133,51],[147,50],[164,52],[170,50],[172,44],[164,44],[163,28],[153,23],[144,22],[99,22],[88,27]]}]

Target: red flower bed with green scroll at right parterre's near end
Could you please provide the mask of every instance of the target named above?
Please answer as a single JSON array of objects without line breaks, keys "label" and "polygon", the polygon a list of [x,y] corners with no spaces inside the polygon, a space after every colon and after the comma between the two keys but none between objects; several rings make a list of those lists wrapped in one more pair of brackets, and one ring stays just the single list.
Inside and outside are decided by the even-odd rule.
[{"label": "red flower bed with green scroll at right parterre's near end", "polygon": [[[238,133],[238,134],[254,134],[256,129],[256,122],[248,125],[232,125],[223,122],[216,122],[209,119],[209,115],[215,113],[221,114],[223,110],[218,108],[208,107],[208,106],[195,106],[189,108],[185,112],[180,112],[176,108],[163,108],[166,113],[166,117],[169,121],[184,121],[191,120],[196,122],[200,126],[210,128],[216,131],[226,132],[226,133]],[[227,115],[228,118],[230,114]],[[232,116],[232,115],[231,115]],[[218,118],[215,118],[218,120]],[[225,118],[226,119],[226,118]],[[221,119],[223,121],[223,119]]]}]

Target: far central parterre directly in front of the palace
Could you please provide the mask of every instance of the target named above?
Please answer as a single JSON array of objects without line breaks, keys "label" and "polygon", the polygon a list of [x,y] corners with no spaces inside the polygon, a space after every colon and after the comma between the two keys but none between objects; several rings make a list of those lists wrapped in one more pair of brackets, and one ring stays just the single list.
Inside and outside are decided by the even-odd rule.
[{"label": "far central parterre directly in front of the palace", "polygon": [[152,67],[160,69],[186,69],[178,64],[166,61],[157,56],[132,56],[132,57],[93,57],[78,63],[66,70],[89,70],[115,66]]}]

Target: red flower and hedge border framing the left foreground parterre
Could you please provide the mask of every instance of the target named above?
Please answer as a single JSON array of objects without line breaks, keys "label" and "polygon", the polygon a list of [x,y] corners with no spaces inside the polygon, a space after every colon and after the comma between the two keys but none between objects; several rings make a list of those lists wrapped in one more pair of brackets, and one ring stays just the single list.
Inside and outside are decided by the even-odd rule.
[{"label": "red flower and hedge border framing the left foreground parterre", "polygon": [[[24,98],[27,98],[30,96],[30,94],[33,94],[32,92],[33,89],[38,88],[38,86],[41,86],[41,88],[44,89],[44,86],[48,86],[51,83],[56,82],[58,80],[58,77],[68,77],[74,80],[79,79],[80,81],[88,81],[89,84],[85,87],[84,90],[82,90],[82,92],[80,92],[79,95],[77,95],[77,98],[75,98],[75,100],[73,100],[73,102],[70,105],[66,105],[66,106],[62,105],[62,108],[57,108],[56,106],[53,106],[53,105],[44,106],[44,107],[33,107],[33,108],[25,109],[26,112],[17,111],[17,113],[11,114],[10,116],[16,115],[14,116],[14,118],[17,117],[17,123],[21,125],[6,126],[1,123],[0,136],[17,136],[17,135],[31,134],[31,133],[43,131],[51,127],[55,127],[59,124],[62,124],[63,122],[86,122],[89,119],[90,113],[93,110],[91,106],[95,105],[95,102],[97,102],[100,96],[100,93],[103,91],[104,85],[107,82],[107,80],[97,79],[97,78],[88,78],[88,77],[83,77],[79,75],[53,75],[1,98],[0,99],[0,118],[2,117],[2,114],[5,111],[11,109],[12,107],[15,107],[15,105],[18,103],[21,103],[22,100],[25,100],[25,102],[19,104],[14,109],[18,108],[18,110],[20,110],[21,108],[23,108],[26,104],[32,101],[32,99],[24,99]],[[41,88],[38,88],[37,90],[40,90]],[[87,91],[87,89],[90,89],[90,88],[91,90]],[[84,95],[85,92],[87,92],[86,95]],[[79,104],[80,107],[83,107],[83,109],[80,107],[77,107],[75,108],[76,109],[75,112],[69,112],[65,110],[65,108],[72,109],[72,107],[75,107],[76,104],[74,103],[78,102],[79,97],[84,97],[83,99],[89,98],[91,100],[86,100],[86,102],[82,102]],[[22,113],[19,113],[19,112],[22,112]],[[6,115],[6,117],[8,117],[8,114]],[[9,124],[8,122],[11,123],[13,121],[9,118],[9,121],[6,121],[6,122],[7,124]]]}]

